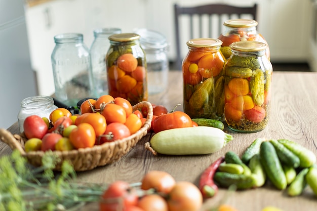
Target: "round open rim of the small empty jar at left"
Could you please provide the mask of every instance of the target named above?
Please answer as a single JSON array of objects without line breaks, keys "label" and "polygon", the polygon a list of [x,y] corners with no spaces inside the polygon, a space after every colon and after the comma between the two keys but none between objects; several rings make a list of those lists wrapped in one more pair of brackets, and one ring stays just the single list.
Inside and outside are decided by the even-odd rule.
[{"label": "round open rim of the small empty jar at left", "polygon": [[50,96],[32,96],[21,101],[21,107],[26,109],[38,109],[52,106],[54,100]]}]

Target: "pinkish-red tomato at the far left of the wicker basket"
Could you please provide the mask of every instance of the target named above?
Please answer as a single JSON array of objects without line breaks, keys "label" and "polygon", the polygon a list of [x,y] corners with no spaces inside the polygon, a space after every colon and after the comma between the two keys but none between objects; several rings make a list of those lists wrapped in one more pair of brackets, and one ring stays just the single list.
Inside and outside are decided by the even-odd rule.
[{"label": "pinkish-red tomato at the far left of the wicker basket", "polygon": [[24,120],[23,130],[27,139],[42,139],[48,132],[49,128],[41,117],[37,115],[31,115],[26,117]]}]

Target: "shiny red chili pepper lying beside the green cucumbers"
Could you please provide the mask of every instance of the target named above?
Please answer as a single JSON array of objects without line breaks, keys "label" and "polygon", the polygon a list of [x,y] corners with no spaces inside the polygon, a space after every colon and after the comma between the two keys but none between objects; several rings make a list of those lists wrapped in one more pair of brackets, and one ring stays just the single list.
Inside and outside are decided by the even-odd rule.
[{"label": "shiny red chili pepper lying beside the green cucumbers", "polygon": [[218,158],[203,172],[199,182],[199,189],[204,198],[210,198],[217,194],[218,186],[214,183],[214,175],[223,161],[224,157]]}]

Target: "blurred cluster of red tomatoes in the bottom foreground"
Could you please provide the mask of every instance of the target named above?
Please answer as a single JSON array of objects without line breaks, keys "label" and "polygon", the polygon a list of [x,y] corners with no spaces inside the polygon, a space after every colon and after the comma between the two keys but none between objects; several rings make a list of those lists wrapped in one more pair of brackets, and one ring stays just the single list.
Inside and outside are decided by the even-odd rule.
[{"label": "blurred cluster of red tomatoes in the bottom foreground", "polygon": [[163,171],[150,171],[134,187],[124,181],[115,181],[102,195],[100,211],[197,211],[203,197],[190,182],[176,182]]}]

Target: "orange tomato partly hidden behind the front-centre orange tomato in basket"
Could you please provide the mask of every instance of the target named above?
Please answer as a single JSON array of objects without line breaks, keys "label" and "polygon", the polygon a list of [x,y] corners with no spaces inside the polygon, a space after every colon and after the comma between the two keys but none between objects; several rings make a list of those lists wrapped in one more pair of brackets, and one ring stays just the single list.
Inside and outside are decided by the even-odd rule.
[{"label": "orange tomato partly hidden behind the front-centre orange tomato in basket", "polygon": [[95,130],[96,137],[102,135],[107,128],[106,118],[100,113],[87,113],[82,122],[89,123]]}]

